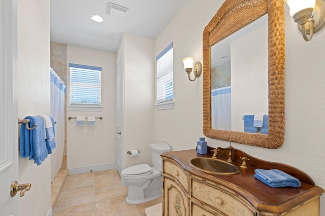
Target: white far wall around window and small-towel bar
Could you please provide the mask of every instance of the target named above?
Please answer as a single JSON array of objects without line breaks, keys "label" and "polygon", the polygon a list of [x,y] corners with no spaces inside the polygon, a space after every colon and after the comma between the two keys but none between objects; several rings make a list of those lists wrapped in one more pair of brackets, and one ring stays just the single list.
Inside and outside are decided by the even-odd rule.
[{"label": "white far wall around window and small-towel bar", "polygon": [[113,53],[67,46],[67,105],[69,63],[74,63],[102,67],[103,106],[102,111],[67,109],[67,117],[103,117],[103,120],[95,120],[94,127],[77,126],[77,119],[67,121],[68,169],[115,163],[115,62],[116,55]]}]

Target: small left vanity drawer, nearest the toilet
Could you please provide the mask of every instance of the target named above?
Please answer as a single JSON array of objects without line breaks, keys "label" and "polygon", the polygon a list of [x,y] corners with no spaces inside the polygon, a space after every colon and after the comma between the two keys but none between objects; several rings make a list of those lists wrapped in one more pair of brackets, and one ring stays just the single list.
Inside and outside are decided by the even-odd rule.
[{"label": "small left vanity drawer, nearest the toilet", "polygon": [[184,190],[188,192],[188,176],[185,174],[182,168],[170,161],[164,160],[164,174],[169,174],[170,176],[174,177],[184,188]]}]

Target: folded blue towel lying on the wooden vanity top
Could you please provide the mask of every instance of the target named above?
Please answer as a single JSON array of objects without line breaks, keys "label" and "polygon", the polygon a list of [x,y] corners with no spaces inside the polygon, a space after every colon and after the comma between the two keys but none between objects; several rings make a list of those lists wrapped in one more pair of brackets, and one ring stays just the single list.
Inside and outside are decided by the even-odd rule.
[{"label": "folded blue towel lying on the wooden vanity top", "polygon": [[301,183],[293,176],[279,169],[255,169],[254,177],[271,188],[300,187]]}]

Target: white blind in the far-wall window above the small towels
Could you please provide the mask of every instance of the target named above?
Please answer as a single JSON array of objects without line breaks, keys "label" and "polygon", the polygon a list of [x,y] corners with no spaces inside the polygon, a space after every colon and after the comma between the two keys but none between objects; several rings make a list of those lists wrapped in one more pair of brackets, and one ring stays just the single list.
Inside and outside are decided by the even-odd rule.
[{"label": "white blind in the far-wall window above the small towels", "polygon": [[102,68],[69,64],[70,105],[101,105]]}]

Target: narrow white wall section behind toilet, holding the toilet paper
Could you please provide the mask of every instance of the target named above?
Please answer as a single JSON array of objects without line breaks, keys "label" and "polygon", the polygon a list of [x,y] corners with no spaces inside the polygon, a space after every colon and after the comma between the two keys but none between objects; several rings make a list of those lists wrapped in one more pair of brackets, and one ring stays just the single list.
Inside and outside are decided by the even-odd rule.
[{"label": "narrow white wall section behind toilet, holding the toilet paper", "polygon": [[[123,50],[122,169],[140,163],[151,164],[154,121],[154,40],[124,33],[117,56]],[[138,149],[139,156],[126,152]]]}]

